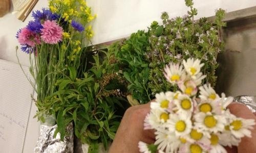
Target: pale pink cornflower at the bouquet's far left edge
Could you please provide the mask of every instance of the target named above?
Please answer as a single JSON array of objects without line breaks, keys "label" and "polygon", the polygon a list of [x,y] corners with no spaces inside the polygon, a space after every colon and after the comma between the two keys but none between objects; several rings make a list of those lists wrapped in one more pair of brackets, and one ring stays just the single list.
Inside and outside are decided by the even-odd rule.
[{"label": "pale pink cornflower at the bouquet's far left edge", "polygon": [[21,45],[29,45],[34,47],[36,44],[40,44],[40,37],[36,35],[34,32],[28,30],[27,28],[23,28],[18,33],[18,42]]}]

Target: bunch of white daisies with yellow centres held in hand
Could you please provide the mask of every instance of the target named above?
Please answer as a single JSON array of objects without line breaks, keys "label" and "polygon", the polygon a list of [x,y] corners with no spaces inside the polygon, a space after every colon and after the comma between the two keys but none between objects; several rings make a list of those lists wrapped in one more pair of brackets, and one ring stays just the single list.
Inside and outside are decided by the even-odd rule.
[{"label": "bunch of white daisies with yellow centres held in hand", "polygon": [[242,137],[251,136],[254,120],[226,109],[232,97],[220,97],[210,85],[198,88],[206,77],[203,65],[198,59],[166,65],[165,78],[180,91],[156,94],[144,122],[144,129],[156,131],[156,141],[139,142],[140,152],[226,152],[223,146],[238,146]]}]

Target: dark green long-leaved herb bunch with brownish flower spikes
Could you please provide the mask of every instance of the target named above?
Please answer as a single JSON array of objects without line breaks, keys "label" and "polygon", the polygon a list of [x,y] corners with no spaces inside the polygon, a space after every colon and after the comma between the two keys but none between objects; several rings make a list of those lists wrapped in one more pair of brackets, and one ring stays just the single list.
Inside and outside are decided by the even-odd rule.
[{"label": "dark green long-leaved herb bunch with brownish flower spikes", "polygon": [[68,67],[69,75],[57,81],[58,90],[46,98],[49,103],[41,110],[57,116],[61,139],[65,127],[73,122],[75,135],[82,143],[90,144],[90,152],[98,152],[98,143],[106,148],[114,139],[127,101],[113,53],[101,50],[93,59],[80,79],[76,70]]}]

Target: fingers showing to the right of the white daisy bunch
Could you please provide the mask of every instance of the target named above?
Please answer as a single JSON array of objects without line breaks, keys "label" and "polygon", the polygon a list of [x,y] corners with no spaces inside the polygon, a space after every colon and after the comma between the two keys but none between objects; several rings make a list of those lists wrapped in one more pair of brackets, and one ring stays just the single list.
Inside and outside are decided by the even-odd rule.
[{"label": "fingers showing to the right of the white daisy bunch", "polygon": [[[256,121],[256,116],[249,110],[245,105],[238,103],[231,103],[227,107],[230,113],[236,115],[237,117],[245,118],[245,119],[254,119]],[[225,147],[227,152],[246,152],[253,153],[256,150],[256,125],[253,126],[253,130],[251,130],[251,138],[243,137],[238,147]]]}]

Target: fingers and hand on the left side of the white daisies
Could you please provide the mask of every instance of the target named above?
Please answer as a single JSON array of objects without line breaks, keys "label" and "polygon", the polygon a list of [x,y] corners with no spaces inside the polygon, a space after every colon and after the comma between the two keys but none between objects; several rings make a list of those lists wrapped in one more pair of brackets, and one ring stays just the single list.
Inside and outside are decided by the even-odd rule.
[{"label": "fingers and hand on the left side of the white daisies", "polygon": [[144,119],[149,112],[150,103],[126,110],[110,147],[110,153],[139,152],[139,141],[148,144],[155,142],[154,131],[144,130]]}]

